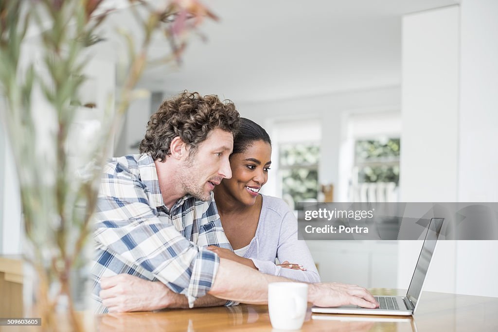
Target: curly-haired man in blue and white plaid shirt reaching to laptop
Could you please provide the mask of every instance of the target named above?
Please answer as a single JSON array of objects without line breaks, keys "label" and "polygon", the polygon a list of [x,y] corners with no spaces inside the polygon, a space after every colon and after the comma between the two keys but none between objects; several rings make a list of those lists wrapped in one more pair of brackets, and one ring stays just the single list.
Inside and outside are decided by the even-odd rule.
[{"label": "curly-haired man in blue and white plaid shirt reaching to laptop", "polygon": [[[212,190],[232,176],[239,125],[233,103],[184,92],[151,116],[140,155],[107,164],[94,233],[98,313],[266,303],[269,282],[290,281],[205,248],[231,248]],[[309,301],[377,305],[364,288],[336,283],[310,284]]]}]

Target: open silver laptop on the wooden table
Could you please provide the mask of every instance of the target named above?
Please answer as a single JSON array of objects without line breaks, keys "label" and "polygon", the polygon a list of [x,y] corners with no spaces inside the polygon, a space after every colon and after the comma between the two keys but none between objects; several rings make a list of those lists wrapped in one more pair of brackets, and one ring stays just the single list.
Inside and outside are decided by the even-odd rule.
[{"label": "open silver laptop on the wooden table", "polygon": [[376,309],[362,308],[358,306],[341,307],[316,307],[311,308],[313,313],[322,314],[358,314],[358,315],[393,315],[410,316],[415,313],[420,302],[420,293],[424,284],[425,276],[429,269],[432,254],[436,249],[436,243],[443,226],[443,218],[432,218],[427,226],[424,243],[418,256],[417,265],[411,278],[410,287],[405,296],[374,296],[380,307]]}]

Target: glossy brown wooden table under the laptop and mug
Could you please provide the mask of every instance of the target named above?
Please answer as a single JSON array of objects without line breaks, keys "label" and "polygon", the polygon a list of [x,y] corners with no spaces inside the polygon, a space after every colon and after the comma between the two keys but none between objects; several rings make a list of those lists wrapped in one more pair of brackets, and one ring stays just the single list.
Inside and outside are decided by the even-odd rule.
[{"label": "glossy brown wooden table under the laptop and mug", "polygon": [[[374,294],[401,293],[374,289]],[[267,306],[167,310],[107,314],[97,318],[100,332],[271,331]],[[302,331],[498,331],[498,298],[424,292],[414,318],[311,314]]]}]

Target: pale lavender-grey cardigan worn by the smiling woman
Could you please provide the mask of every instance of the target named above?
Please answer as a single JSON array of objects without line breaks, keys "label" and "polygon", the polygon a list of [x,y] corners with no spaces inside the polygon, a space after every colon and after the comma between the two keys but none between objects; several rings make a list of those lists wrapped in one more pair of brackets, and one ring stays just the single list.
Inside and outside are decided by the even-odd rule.
[{"label": "pale lavender-grey cardigan worn by the smiling woman", "polygon": [[[261,195],[263,199],[256,234],[244,254],[260,272],[304,281],[320,282],[320,275],[304,240],[297,239],[297,220],[287,204],[279,198]],[[281,268],[278,261],[303,265],[306,271]]]}]

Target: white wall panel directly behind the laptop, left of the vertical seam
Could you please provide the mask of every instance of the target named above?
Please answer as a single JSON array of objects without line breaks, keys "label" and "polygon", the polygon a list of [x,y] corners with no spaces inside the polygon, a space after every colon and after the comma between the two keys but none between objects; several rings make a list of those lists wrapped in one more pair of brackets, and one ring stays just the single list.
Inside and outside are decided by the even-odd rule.
[{"label": "white wall panel directly behind the laptop, left of the vertical seam", "polygon": [[[403,17],[401,202],[457,199],[458,31],[458,6]],[[399,288],[408,288],[421,244],[399,241]],[[455,291],[455,250],[454,241],[439,243],[426,290]]]}]

